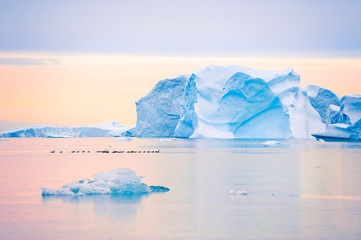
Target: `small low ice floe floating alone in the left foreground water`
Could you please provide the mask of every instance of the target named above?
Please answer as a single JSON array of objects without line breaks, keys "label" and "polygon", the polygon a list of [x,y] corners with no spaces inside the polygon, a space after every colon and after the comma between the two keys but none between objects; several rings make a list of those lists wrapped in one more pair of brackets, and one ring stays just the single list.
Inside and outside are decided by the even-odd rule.
[{"label": "small low ice floe floating alone in the left foreground water", "polygon": [[107,173],[95,174],[94,180],[84,179],[68,183],[60,189],[41,188],[43,196],[84,196],[102,194],[141,195],[152,192],[168,192],[163,186],[148,186],[143,177],[127,168],[116,168]]}]

